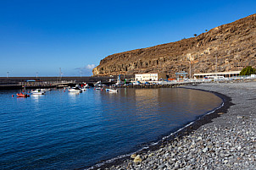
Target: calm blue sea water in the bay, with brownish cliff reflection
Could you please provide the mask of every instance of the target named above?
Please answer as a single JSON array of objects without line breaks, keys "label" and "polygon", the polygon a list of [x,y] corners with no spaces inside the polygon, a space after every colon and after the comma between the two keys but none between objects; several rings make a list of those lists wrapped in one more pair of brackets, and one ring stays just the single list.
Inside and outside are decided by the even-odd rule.
[{"label": "calm blue sea water in the bay, with brownish cliff reflection", "polygon": [[200,90],[64,90],[17,98],[0,90],[0,169],[74,169],[131,153],[222,100]]}]

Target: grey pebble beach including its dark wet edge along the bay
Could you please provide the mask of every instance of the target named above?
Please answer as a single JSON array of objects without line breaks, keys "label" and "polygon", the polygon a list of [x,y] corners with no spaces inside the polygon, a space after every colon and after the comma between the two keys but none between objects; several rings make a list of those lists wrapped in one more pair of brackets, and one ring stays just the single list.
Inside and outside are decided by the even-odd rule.
[{"label": "grey pebble beach including its dark wet edge along the bay", "polygon": [[155,147],[93,169],[256,169],[256,82],[185,88],[213,92],[224,106]]}]

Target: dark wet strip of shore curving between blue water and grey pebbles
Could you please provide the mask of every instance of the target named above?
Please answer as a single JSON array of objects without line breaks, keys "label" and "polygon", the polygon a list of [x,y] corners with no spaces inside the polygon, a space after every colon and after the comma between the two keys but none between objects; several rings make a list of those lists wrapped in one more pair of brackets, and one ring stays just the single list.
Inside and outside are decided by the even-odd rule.
[{"label": "dark wet strip of shore curving between blue water and grey pebbles", "polygon": [[[213,85],[213,84],[210,84]],[[203,89],[197,89],[198,86],[185,86],[185,87],[179,87],[179,88],[186,88],[191,90],[203,90]],[[161,140],[157,141],[156,145],[150,145],[147,149],[142,149],[141,151],[137,151],[135,155],[139,155],[142,158],[142,162],[133,162],[133,158],[131,158],[131,154],[127,154],[124,157],[116,157],[115,160],[112,162],[108,162],[107,160],[97,163],[97,165],[94,165],[92,167],[89,167],[88,169],[132,169],[137,167],[141,167],[140,165],[143,163],[143,160],[147,159],[148,153],[153,153],[155,151],[162,150],[164,147],[168,147],[169,145],[172,145],[177,140],[182,140],[183,137],[186,137],[186,135],[192,134],[194,131],[199,129],[205,124],[212,123],[214,118],[219,118],[222,114],[226,113],[227,110],[233,106],[234,104],[231,102],[231,97],[226,96],[224,94],[221,94],[216,91],[212,90],[203,90],[205,92],[211,92],[215,96],[219,96],[223,103],[222,106],[215,108],[214,111],[205,113],[204,115],[200,116],[197,120],[185,124],[181,129],[176,129],[174,133],[171,133],[169,136],[165,136]],[[130,168],[129,168],[130,166]],[[128,168],[127,168],[128,167]]]}]

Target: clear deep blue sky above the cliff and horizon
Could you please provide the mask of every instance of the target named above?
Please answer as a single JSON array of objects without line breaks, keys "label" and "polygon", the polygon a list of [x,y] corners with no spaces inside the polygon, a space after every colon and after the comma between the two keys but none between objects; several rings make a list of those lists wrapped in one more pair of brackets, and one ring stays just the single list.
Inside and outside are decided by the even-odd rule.
[{"label": "clear deep blue sky above the cliff and horizon", "polygon": [[0,77],[90,76],[117,52],[201,34],[256,0],[0,0]]}]

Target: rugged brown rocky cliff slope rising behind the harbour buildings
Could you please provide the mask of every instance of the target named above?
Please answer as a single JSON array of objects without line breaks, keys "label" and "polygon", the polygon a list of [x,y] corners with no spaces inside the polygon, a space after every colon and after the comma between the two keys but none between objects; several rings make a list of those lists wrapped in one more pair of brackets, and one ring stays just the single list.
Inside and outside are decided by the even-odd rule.
[{"label": "rugged brown rocky cliff slope rising behind the harbour buildings", "polygon": [[196,37],[110,55],[92,73],[109,76],[164,72],[174,77],[176,72],[189,73],[190,63],[192,74],[255,67],[256,14]]}]

